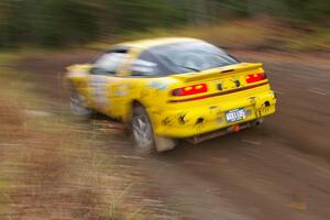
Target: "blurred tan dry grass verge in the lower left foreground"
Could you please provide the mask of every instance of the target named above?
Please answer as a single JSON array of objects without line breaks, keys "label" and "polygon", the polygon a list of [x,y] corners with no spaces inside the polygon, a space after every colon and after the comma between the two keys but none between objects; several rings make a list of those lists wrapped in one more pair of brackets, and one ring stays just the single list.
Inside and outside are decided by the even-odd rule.
[{"label": "blurred tan dry grass verge in the lower left foreground", "polygon": [[130,144],[118,130],[43,112],[33,82],[12,68],[0,74],[0,219],[136,220],[167,209],[153,208],[140,158],[117,152]]}]

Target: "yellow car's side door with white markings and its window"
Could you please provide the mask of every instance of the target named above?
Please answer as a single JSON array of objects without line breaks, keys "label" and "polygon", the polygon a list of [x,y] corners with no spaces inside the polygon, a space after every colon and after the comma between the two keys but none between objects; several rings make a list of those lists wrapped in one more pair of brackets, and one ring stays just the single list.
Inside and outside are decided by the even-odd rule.
[{"label": "yellow car's side door with white markings and its window", "polygon": [[125,50],[113,50],[97,59],[90,70],[88,84],[94,108],[112,117],[116,109],[113,98],[120,78],[117,76],[128,54]]}]

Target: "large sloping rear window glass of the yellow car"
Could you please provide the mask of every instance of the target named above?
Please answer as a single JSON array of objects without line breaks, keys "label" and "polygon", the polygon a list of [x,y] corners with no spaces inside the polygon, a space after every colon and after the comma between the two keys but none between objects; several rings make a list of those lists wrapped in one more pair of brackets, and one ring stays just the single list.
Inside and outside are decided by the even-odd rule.
[{"label": "large sloping rear window glass of the yellow car", "polygon": [[173,74],[200,72],[237,64],[238,61],[224,51],[206,42],[182,42],[152,47],[154,54]]}]

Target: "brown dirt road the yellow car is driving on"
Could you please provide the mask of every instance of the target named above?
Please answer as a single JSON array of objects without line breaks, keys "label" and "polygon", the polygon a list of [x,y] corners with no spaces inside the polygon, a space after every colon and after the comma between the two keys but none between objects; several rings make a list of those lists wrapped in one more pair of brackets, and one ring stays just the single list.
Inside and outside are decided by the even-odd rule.
[{"label": "brown dirt road the yellow car is driving on", "polygon": [[[180,143],[168,153],[132,157],[158,199],[185,219],[327,220],[330,218],[330,55],[232,52],[260,61],[277,92],[278,110],[258,128]],[[36,90],[58,109],[64,66],[97,53],[30,57]],[[105,142],[105,144],[107,144]],[[132,156],[128,147],[120,154]]]}]

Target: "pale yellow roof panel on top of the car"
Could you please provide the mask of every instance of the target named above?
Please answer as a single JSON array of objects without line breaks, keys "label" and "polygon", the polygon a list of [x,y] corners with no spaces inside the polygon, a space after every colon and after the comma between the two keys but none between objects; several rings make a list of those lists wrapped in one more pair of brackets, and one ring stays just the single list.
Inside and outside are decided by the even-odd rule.
[{"label": "pale yellow roof panel on top of the car", "polygon": [[130,47],[130,48],[146,50],[154,46],[161,46],[166,44],[174,44],[179,42],[198,42],[198,41],[201,40],[190,38],[190,37],[161,37],[161,38],[147,38],[147,40],[140,40],[140,41],[124,42],[114,45],[114,47]]}]

